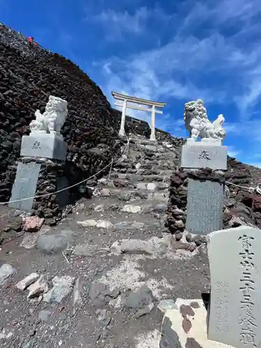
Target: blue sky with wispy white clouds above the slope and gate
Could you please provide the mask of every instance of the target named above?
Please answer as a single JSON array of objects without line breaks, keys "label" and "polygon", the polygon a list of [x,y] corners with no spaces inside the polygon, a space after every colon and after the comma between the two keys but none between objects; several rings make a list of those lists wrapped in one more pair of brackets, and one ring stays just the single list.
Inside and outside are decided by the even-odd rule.
[{"label": "blue sky with wispy white clouds above the slope and gate", "polygon": [[111,90],[166,102],[156,125],[174,136],[203,99],[230,155],[261,166],[260,0],[0,0],[0,22],[77,63],[111,104]]}]

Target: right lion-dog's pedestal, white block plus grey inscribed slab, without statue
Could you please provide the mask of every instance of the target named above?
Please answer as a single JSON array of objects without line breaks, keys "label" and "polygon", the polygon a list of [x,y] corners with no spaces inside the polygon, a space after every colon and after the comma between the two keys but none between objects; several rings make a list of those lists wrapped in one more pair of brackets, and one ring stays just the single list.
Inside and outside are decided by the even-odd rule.
[{"label": "right lion-dog's pedestal, white block plus grey inscribed slab, without statue", "polygon": [[[191,173],[187,191],[186,230],[206,235],[223,228],[223,200],[227,148],[215,141],[192,141],[182,146],[181,167]],[[193,175],[203,168],[212,173]],[[216,172],[217,173],[216,173]]]}]

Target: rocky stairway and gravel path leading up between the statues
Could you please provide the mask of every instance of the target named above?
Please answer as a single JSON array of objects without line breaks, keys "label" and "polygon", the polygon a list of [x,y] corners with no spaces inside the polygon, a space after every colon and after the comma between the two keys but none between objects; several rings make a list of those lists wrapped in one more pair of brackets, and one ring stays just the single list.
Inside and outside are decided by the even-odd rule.
[{"label": "rocky stairway and gravel path leading up between the statues", "polygon": [[92,199],[3,245],[0,347],[161,347],[173,296],[197,299],[209,284],[205,253],[175,250],[164,227],[178,157],[133,140],[110,175],[88,182]]}]

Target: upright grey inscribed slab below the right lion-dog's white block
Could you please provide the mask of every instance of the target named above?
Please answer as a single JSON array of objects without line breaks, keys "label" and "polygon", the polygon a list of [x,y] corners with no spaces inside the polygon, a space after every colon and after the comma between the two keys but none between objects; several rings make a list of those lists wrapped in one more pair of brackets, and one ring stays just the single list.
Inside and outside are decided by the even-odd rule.
[{"label": "upright grey inscribed slab below the right lion-dog's white block", "polygon": [[223,228],[223,184],[189,179],[186,230],[206,235]]}]

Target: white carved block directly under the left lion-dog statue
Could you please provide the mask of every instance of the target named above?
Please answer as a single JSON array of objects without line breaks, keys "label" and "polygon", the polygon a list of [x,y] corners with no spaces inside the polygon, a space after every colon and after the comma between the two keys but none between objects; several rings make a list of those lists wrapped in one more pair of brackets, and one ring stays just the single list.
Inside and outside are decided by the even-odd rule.
[{"label": "white carved block directly under the left lion-dog statue", "polygon": [[22,137],[21,156],[41,157],[65,161],[67,143],[50,134],[37,134]]}]

